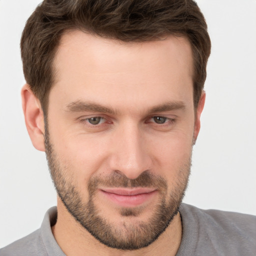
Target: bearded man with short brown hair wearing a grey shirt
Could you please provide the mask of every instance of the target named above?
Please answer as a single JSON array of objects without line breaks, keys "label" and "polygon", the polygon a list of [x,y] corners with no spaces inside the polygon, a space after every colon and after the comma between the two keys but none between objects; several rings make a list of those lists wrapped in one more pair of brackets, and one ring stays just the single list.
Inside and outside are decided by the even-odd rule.
[{"label": "bearded man with short brown hair wearing a grey shirt", "polygon": [[57,209],[1,255],[252,255],[255,217],[181,204],[210,40],[192,1],[44,1],[22,105]]}]

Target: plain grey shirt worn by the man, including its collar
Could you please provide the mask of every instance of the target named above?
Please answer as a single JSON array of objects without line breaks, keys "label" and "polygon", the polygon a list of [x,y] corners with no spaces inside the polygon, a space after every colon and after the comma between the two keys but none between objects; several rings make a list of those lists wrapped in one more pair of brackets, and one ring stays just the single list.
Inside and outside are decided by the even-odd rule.
[{"label": "plain grey shirt worn by the man, including its collar", "polygon": [[[256,216],[180,205],[182,239],[176,256],[256,255]],[[0,249],[0,256],[64,256],[51,232],[56,207],[45,214],[41,227]]]}]

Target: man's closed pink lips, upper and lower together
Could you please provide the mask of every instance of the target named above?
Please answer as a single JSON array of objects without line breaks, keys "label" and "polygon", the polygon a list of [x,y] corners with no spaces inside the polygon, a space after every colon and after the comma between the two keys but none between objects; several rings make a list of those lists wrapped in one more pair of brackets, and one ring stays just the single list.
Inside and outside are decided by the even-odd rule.
[{"label": "man's closed pink lips, upper and lower together", "polygon": [[122,207],[134,207],[146,203],[157,192],[155,188],[101,188],[99,191],[108,200]]}]

